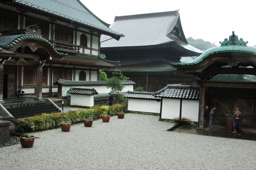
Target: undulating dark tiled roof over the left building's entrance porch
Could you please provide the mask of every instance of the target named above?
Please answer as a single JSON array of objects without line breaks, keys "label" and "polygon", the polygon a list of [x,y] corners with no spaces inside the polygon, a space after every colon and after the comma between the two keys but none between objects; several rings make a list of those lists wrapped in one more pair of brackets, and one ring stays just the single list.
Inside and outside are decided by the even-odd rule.
[{"label": "undulating dark tiled roof over the left building's entrance porch", "polygon": [[60,57],[64,57],[67,54],[63,54],[63,53],[59,53],[58,51],[56,51],[53,47],[52,44],[44,39],[43,37],[40,37],[38,35],[32,35],[32,34],[22,34],[22,35],[1,35],[0,36],[0,47],[1,48],[5,48],[5,49],[9,49],[14,47],[15,45],[17,45],[19,42],[23,41],[23,40],[32,40],[32,41],[40,41],[40,42],[44,42],[46,45],[48,45],[52,51],[60,56]]}]

